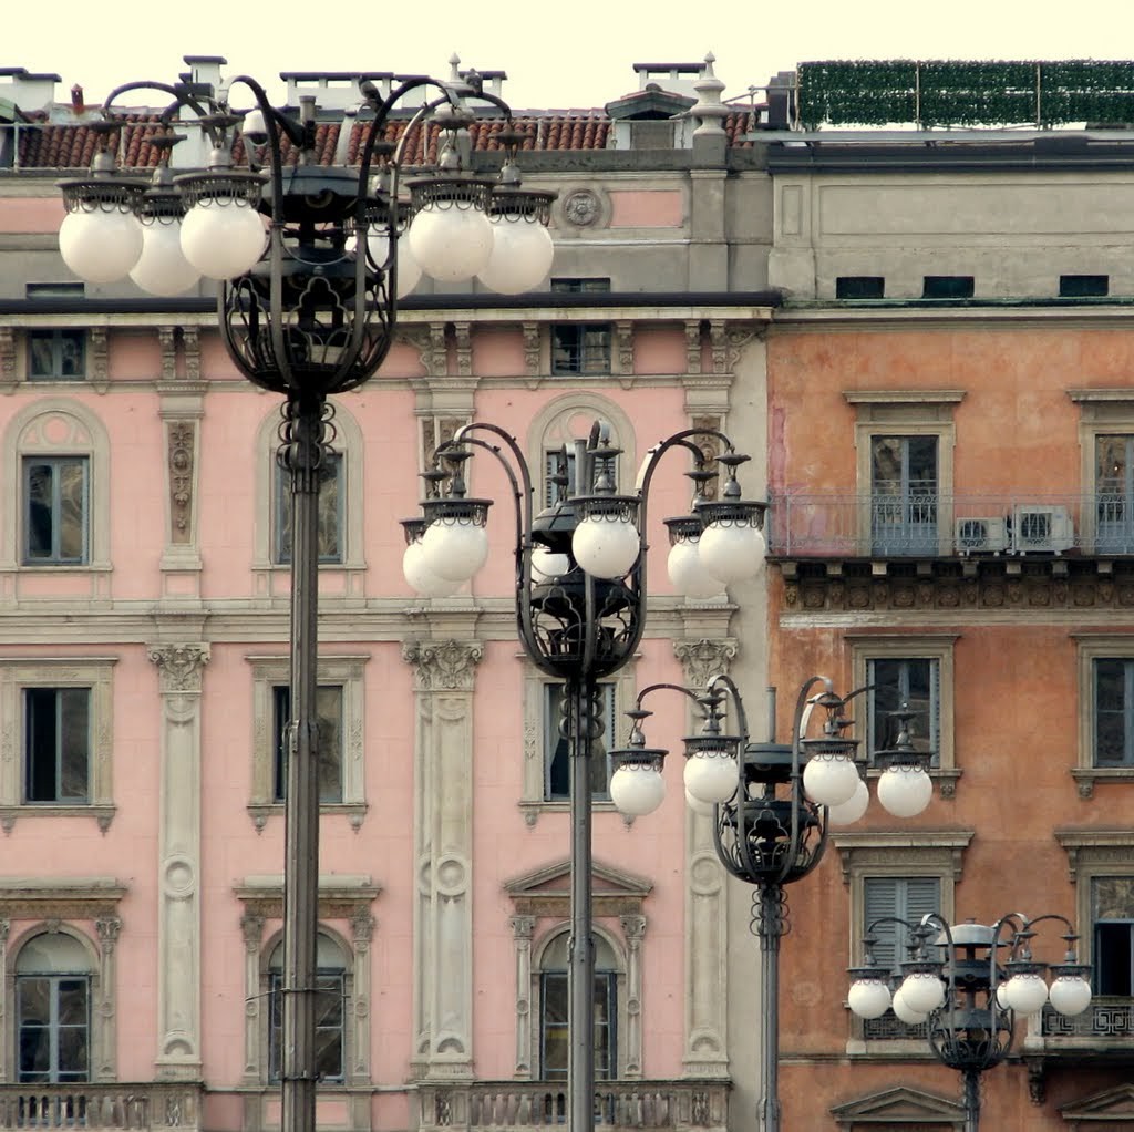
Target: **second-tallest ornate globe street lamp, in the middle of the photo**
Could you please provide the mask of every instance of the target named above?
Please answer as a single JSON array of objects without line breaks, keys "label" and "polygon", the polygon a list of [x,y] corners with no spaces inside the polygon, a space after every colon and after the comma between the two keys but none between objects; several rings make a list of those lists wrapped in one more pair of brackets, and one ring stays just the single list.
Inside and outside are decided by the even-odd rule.
[{"label": "second-tallest ornate globe street lamp, in the middle of the photo", "polygon": [[[699,443],[700,441],[700,443]],[[717,476],[701,445],[722,445],[714,458],[725,468],[719,498],[708,484]],[[532,662],[564,682],[561,730],[570,749],[570,945],[568,958],[568,1125],[594,1126],[594,953],[591,941],[591,755],[602,735],[598,681],[634,656],[646,616],[646,504],[654,471],[671,448],[693,458],[691,514],[670,521],[680,533],[686,581],[720,593],[729,582],[754,576],[763,563],[761,527],[765,504],[742,498],[736,453],[723,433],[687,429],[652,448],[637,478],[640,487],[619,493],[610,474],[619,449],[610,429],[596,422],[587,440],[575,442],[574,481],[557,478],[558,499],[535,513],[527,462],[516,439],[494,424],[474,422],[441,445],[424,474],[423,517],[405,523],[404,568],[418,592],[454,592],[488,558],[485,523],[491,501],[466,493],[464,466],[476,450],[491,453],[507,473],[515,504],[516,617],[519,640]],[[710,551],[710,552],[704,552]],[[701,555],[691,566],[693,556]],[[671,552],[672,555],[672,552]],[[672,566],[674,558],[670,563]],[[711,565],[710,565],[711,563]],[[705,583],[700,576],[709,574]],[[671,580],[680,586],[674,577]],[[611,793],[615,785],[611,783]],[[660,799],[659,799],[660,801]]]}]

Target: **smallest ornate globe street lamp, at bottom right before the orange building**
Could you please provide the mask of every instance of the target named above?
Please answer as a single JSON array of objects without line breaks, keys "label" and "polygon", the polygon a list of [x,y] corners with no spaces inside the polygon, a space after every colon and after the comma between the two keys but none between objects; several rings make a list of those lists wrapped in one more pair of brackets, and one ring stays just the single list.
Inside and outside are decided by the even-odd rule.
[{"label": "smallest ornate globe street lamp, at bottom right before the orange building", "polygon": [[[1049,965],[1032,956],[1034,928],[1044,920],[1058,920],[1067,929],[1061,963]],[[908,935],[909,958],[895,969],[879,965],[873,956],[875,932],[887,924]],[[1050,913],[1030,920],[1012,912],[991,927],[950,926],[936,912],[916,924],[883,916],[866,928],[863,965],[850,969],[847,1000],[863,1019],[881,1017],[892,1007],[908,1025],[925,1025],[934,1055],[964,1079],[965,1132],[978,1132],[980,1075],[1012,1053],[1017,1016],[1036,1014],[1049,1002],[1067,1016],[1090,1005],[1091,968],[1076,958],[1077,940],[1070,921]]]}]

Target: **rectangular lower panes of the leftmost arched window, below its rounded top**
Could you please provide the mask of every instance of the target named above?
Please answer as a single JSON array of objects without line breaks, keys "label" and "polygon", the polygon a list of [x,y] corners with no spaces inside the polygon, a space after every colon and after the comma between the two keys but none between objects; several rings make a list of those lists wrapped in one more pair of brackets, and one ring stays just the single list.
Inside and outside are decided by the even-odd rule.
[{"label": "rectangular lower panes of the leftmost arched window, below its rounded top", "polygon": [[91,990],[85,975],[19,975],[16,1009],[22,1082],[90,1080]]}]

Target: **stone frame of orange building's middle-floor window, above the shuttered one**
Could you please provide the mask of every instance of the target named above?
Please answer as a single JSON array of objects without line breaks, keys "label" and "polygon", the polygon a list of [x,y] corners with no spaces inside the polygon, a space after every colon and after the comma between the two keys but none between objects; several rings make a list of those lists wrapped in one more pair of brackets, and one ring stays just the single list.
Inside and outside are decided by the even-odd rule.
[{"label": "stone frame of orange building's middle-floor window, above the shuttered one", "polygon": [[[874,660],[930,660],[937,664],[938,687],[938,747],[937,763],[930,767],[938,794],[951,799],[956,794],[957,779],[962,771],[956,762],[955,715],[955,666],[954,652],[959,633],[931,634],[846,634],[844,640],[850,648],[850,686],[870,685],[870,665]],[[856,737],[870,742],[869,720],[873,717],[873,694],[865,692],[868,700],[864,723],[856,727]],[[870,764],[868,776],[875,778],[881,768],[874,766],[873,752],[868,751]]]}]

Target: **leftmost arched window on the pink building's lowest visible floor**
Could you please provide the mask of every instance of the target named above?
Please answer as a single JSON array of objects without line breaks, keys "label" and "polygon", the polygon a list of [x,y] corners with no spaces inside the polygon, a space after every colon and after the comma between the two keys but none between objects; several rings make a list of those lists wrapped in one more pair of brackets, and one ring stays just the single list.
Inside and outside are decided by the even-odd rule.
[{"label": "leftmost arched window on the pink building's lowest visible floor", "polygon": [[91,958],[64,932],[35,936],[16,960],[16,1073],[20,1082],[91,1079]]}]

